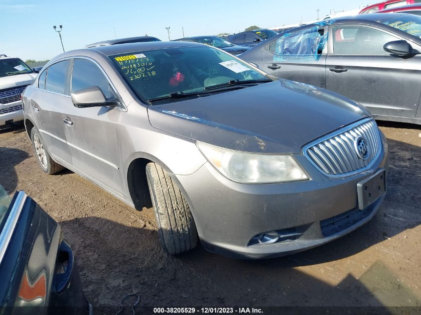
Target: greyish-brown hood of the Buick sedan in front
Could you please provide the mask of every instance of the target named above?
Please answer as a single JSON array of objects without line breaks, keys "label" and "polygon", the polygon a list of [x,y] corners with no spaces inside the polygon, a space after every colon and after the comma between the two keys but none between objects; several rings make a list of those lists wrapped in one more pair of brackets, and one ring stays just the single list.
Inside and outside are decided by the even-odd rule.
[{"label": "greyish-brown hood of the Buick sedan in front", "polygon": [[213,96],[148,106],[155,128],[216,146],[301,153],[306,143],[370,113],[335,93],[279,80]]}]

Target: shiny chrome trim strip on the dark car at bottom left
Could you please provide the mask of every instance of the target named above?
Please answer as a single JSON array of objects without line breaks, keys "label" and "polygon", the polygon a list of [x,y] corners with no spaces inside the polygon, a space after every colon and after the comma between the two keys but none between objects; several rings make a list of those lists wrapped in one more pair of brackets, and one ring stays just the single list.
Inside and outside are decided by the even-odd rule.
[{"label": "shiny chrome trim strip on the dark car at bottom left", "polygon": [[16,228],[25,201],[26,194],[25,192],[20,191],[13,203],[12,209],[10,210],[4,227],[0,233],[0,266],[7,247],[10,244],[10,239],[13,235],[14,229]]}]

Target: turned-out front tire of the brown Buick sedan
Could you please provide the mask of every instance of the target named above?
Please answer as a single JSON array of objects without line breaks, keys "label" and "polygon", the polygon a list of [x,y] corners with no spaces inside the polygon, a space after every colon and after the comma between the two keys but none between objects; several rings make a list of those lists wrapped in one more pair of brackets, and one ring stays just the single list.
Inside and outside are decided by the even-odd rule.
[{"label": "turned-out front tire of the brown Buick sedan", "polygon": [[148,163],[146,177],[162,248],[175,255],[194,248],[198,236],[187,201],[159,165]]}]

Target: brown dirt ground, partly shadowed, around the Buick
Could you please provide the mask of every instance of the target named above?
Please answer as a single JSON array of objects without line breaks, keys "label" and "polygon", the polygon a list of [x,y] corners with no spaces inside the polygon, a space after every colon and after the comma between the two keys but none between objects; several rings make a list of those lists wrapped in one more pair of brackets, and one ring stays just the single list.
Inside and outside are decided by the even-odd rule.
[{"label": "brown dirt ground, partly shadowed, around the Buick", "polygon": [[389,139],[390,171],[374,218],[329,244],[278,259],[235,260],[200,245],[166,255],[152,209],[132,209],[70,171],[44,174],[21,125],[0,131],[0,183],[9,194],[24,190],[60,222],[94,306],[119,306],[137,293],[140,305],[152,307],[420,307],[421,126],[379,125]]}]

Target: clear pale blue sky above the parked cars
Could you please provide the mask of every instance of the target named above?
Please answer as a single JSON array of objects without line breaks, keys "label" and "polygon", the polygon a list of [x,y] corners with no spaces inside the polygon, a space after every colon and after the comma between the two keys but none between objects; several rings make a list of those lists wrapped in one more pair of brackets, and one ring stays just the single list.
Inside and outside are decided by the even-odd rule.
[{"label": "clear pale blue sky above the parked cars", "polygon": [[[374,3],[374,2],[372,2]],[[50,59],[62,52],[53,25],[63,25],[64,49],[144,34],[170,38],[238,33],[298,23],[367,5],[361,0],[0,0],[0,54],[23,60]],[[115,35],[116,34],[116,35]]]}]

